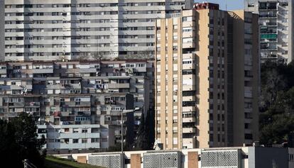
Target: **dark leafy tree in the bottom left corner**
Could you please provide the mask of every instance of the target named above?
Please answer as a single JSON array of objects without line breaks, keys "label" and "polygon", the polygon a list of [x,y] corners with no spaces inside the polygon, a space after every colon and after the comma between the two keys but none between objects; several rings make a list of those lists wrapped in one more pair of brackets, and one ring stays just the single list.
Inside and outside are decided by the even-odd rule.
[{"label": "dark leafy tree in the bottom left corner", "polygon": [[12,121],[0,120],[0,159],[1,164],[9,167],[23,167],[23,159],[36,167],[43,166],[45,153],[40,154],[45,138],[38,139],[34,118],[21,113]]}]

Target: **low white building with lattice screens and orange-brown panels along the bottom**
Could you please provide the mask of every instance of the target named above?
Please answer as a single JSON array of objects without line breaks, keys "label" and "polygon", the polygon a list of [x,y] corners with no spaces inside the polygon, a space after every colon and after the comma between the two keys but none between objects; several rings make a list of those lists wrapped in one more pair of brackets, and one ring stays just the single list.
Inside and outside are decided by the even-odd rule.
[{"label": "low white building with lattice screens and orange-brown panels along the bottom", "polygon": [[[55,155],[102,167],[119,168],[121,153],[78,153]],[[190,150],[154,150],[124,152],[124,167],[136,168],[290,168],[293,148],[284,147],[217,147]],[[109,160],[113,162],[109,162]]]}]

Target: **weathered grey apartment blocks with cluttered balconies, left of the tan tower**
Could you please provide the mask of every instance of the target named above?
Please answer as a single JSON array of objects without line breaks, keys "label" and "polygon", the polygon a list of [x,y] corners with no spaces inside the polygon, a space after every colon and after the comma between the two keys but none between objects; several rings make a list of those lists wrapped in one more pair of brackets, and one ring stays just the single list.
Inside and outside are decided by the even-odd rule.
[{"label": "weathered grey apartment blocks with cluttered balconies, left of the tan tower", "polygon": [[113,146],[121,141],[121,111],[138,108],[123,118],[125,138],[134,145],[141,114],[154,108],[153,62],[148,60],[2,62],[0,77],[0,117],[35,116],[48,149],[80,147],[72,140],[85,128],[86,137],[75,143],[97,138],[86,148]]}]

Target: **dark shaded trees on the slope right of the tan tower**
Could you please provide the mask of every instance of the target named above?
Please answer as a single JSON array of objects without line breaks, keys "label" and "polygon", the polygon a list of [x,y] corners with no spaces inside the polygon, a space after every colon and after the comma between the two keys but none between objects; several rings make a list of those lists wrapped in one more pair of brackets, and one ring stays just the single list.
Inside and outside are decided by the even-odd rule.
[{"label": "dark shaded trees on the slope right of the tan tower", "polygon": [[261,65],[260,141],[271,146],[288,140],[294,130],[294,63]]}]

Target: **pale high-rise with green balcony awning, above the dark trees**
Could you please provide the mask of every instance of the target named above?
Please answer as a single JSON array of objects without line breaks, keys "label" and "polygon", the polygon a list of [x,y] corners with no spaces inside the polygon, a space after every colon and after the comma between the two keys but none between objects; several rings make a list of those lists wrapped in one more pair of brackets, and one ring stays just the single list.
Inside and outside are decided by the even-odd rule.
[{"label": "pale high-rise with green balcony awning, above the dark trees", "polygon": [[245,11],[259,14],[261,62],[293,60],[293,1],[246,0]]}]

